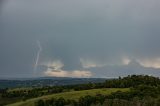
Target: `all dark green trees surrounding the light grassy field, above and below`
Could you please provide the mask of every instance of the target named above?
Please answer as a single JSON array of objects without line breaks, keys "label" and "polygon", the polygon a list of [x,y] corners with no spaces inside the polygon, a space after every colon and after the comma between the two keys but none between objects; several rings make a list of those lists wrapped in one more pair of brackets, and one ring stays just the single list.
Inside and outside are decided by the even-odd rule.
[{"label": "all dark green trees surrounding the light grassy field, above and below", "polygon": [[[96,88],[131,88],[128,92],[115,92],[111,95],[96,95],[81,97],[78,101],[65,100],[65,98],[39,100],[36,106],[90,106],[91,104],[107,106],[160,106],[160,79],[147,75],[129,75],[118,79],[106,80],[104,83],[88,83],[66,86],[53,86],[33,88],[30,90],[16,90],[8,92],[8,89],[0,89],[2,98],[21,98],[25,101],[29,98],[48,94],[68,92],[71,90],[89,90]],[[1,104],[3,105],[3,104]]]}]

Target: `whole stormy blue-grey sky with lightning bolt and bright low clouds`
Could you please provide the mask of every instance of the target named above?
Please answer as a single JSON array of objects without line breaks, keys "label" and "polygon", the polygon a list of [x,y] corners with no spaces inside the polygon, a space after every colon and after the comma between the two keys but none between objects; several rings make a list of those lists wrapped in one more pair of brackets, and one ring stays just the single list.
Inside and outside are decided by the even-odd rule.
[{"label": "whole stormy blue-grey sky with lightning bolt and bright low clouds", "polygon": [[160,76],[159,0],[1,0],[0,78]]}]

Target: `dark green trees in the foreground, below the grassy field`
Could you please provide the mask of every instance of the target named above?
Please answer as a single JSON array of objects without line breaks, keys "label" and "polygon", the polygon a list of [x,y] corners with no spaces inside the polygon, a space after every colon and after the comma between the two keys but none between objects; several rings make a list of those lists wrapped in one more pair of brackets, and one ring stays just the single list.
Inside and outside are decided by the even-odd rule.
[{"label": "dark green trees in the foreground, below the grassy field", "polygon": [[117,91],[110,95],[97,94],[76,100],[52,98],[38,100],[35,106],[160,106],[160,86],[139,85],[128,92]]}]

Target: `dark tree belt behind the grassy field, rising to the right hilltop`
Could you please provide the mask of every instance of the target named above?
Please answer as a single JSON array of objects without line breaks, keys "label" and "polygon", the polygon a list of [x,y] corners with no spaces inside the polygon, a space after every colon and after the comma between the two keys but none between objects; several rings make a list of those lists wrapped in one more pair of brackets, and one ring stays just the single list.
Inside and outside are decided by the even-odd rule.
[{"label": "dark tree belt behind the grassy field, rising to the right hilltop", "polygon": [[[119,77],[119,79],[106,80],[106,82],[104,83],[88,83],[88,84],[78,84],[78,85],[68,85],[68,86],[41,87],[41,88],[33,88],[31,90],[18,90],[12,92],[6,92],[7,91],[6,89],[3,90],[0,89],[0,92],[2,92],[2,97],[8,97],[8,98],[23,97],[28,99],[53,93],[60,93],[64,91],[66,92],[72,89],[88,90],[96,88],[129,88],[129,87],[136,87],[139,85],[158,86],[160,85],[160,79],[147,75],[146,76],[132,75],[124,78]],[[154,90],[154,88],[152,90]]]}]

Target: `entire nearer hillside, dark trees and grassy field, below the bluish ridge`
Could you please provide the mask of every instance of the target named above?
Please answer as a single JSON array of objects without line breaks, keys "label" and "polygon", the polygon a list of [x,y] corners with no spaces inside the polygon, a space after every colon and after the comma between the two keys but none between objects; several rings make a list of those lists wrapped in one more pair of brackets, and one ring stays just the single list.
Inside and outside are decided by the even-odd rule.
[{"label": "entire nearer hillside, dark trees and grassy field, below the bluish ridge", "polygon": [[104,83],[3,89],[1,99],[4,98],[17,98],[9,106],[160,106],[160,79],[132,75]]}]

